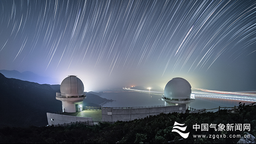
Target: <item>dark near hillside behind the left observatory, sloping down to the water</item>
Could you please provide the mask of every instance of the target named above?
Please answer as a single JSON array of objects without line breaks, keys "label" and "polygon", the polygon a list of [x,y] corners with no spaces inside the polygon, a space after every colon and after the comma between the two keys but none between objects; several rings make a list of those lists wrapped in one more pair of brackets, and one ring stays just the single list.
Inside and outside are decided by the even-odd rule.
[{"label": "dark near hillside behind the left observatory, sloping down to the water", "polygon": [[[46,126],[46,113],[62,109],[56,100],[60,85],[39,84],[6,78],[0,73],[0,127]],[[109,102],[95,94],[86,93],[85,106],[99,106]]]}]

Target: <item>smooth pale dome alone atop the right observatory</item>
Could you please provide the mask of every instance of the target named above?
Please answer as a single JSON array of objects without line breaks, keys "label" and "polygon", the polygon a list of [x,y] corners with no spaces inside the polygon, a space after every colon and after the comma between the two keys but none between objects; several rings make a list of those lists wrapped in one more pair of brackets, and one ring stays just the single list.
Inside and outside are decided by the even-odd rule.
[{"label": "smooth pale dome alone atop the right observatory", "polygon": [[191,85],[184,78],[173,78],[165,85],[164,94],[165,98],[189,99]]}]

